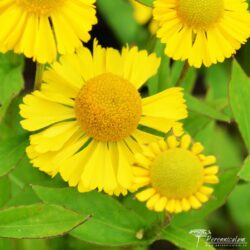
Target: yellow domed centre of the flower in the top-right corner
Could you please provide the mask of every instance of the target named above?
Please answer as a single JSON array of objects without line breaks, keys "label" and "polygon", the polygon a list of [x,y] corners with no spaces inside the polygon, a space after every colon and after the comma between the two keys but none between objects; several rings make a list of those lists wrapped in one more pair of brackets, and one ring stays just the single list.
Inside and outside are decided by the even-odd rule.
[{"label": "yellow domed centre of the flower in the top-right corner", "polygon": [[224,0],[177,0],[177,13],[189,26],[207,28],[223,15]]}]

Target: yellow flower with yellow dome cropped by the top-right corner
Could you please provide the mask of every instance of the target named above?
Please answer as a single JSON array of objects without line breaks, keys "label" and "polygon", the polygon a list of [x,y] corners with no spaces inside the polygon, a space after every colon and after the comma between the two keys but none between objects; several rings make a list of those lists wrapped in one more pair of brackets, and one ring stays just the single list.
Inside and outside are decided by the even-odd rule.
[{"label": "yellow flower with yellow dome cropped by the top-right corner", "polygon": [[245,0],[155,0],[153,16],[165,53],[197,68],[223,62],[250,35]]}]

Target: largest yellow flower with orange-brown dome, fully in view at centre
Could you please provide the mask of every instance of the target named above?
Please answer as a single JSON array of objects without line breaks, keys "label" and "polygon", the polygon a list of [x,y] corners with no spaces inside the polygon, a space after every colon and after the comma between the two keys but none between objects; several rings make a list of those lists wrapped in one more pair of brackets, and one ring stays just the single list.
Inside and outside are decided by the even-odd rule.
[{"label": "largest yellow flower with orange-brown dome, fully in view at centre", "polygon": [[139,126],[167,132],[187,116],[181,88],[141,98],[138,89],[160,59],[146,51],[94,44],[62,56],[45,72],[41,91],[24,97],[21,124],[29,131],[33,165],[60,173],[85,192],[98,188],[126,194],[132,185],[133,152],[158,137]]}]

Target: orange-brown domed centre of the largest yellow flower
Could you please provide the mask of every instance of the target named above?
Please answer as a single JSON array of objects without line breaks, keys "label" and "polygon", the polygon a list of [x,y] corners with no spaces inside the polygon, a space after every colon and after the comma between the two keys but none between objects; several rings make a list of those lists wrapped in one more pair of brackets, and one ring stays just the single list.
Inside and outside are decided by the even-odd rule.
[{"label": "orange-brown domed centre of the largest yellow flower", "polygon": [[119,141],[137,128],[141,97],[127,80],[111,73],[82,87],[75,100],[76,117],[87,135],[98,141]]}]

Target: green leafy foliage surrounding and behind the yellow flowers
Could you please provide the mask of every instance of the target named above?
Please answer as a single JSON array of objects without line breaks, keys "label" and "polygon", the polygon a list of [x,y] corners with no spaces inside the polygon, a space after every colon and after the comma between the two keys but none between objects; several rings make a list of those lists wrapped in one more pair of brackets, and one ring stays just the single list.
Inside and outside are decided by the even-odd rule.
[{"label": "green leafy foliage surrounding and behind the yellow flowers", "polygon": [[[164,55],[164,46],[133,19],[129,3],[97,0],[97,8],[120,46],[137,44],[162,58],[147,94],[175,86],[184,63]],[[162,214],[149,212],[133,195],[80,194],[30,165],[25,155],[28,134],[18,114],[25,94],[24,66],[22,56],[0,55],[1,250],[145,250],[160,239],[197,249],[197,238],[189,234],[195,228],[210,229],[218,237],[246,237],[250,244],[250,42],[236,58],[191,68],[181,82],[189,108],[185,129],[205,145],[207,154],[217,156],[220,183],[210,202],[174,216],[167,227]],[[198,247],[213,249],[202,239]]]}]

